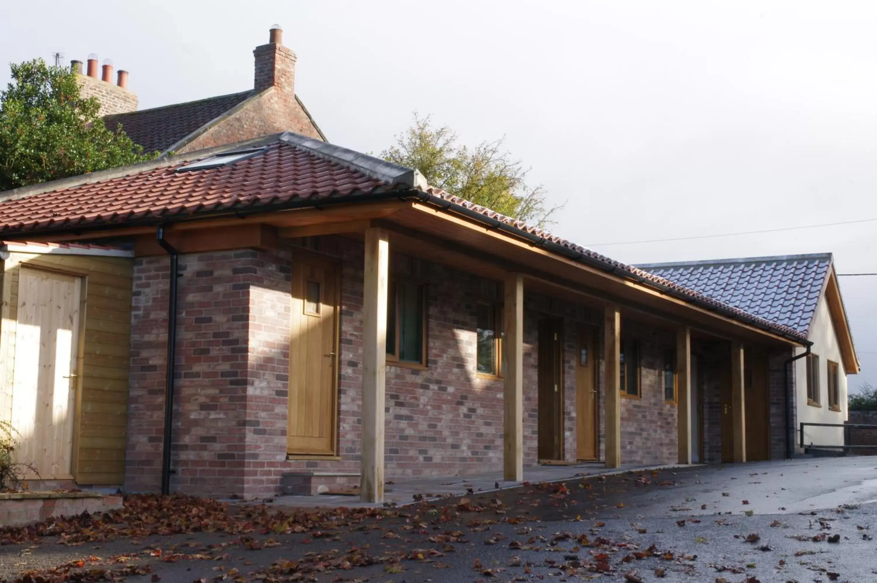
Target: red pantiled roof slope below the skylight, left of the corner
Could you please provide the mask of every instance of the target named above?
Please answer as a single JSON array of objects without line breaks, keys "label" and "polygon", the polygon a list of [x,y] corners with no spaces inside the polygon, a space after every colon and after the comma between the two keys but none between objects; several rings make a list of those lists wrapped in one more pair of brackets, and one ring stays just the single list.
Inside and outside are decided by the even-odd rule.
[{"label": "red pantiled roof slope below the skylight, left of the corner", "polygon": [[144,220],[155,224],[196,213],[362,195],[388,187],[278,139],[264,153],[229,166],[176,172],[187,163],[0,202],[0,234],[26,236],[50,228]]}]

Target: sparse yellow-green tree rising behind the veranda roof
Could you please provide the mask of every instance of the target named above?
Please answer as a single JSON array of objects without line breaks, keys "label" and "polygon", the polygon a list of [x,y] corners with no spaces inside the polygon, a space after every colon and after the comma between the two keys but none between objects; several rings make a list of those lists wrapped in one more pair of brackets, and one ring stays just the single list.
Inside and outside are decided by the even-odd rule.
[{"label": "sparse yellow-green tree rising behind the veranda roof", "polygon": [[430,117],[415,113],[414,124],[396,136],[396,145],[381,157],[417,168],[431,186],[453,196],[540,227],[550,224],[554,211],[563,205],[550,206],[542,185],[527,185],[529,168],[511,158],[504,143],[501,138],[471,149],[460,146],[451,128],[434,127]]}]

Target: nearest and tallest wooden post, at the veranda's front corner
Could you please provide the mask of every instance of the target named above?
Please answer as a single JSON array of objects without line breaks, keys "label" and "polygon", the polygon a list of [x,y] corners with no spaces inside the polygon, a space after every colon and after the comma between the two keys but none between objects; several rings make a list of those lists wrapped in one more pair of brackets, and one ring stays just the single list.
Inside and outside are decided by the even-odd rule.
[{"label": "nearest and tallest wooden post, at the veranda's front corner", "polygon": [[365,259],[362,289],[360,497],[365,502],[382,502],[389,293],[389,242],[386,231],[374,227],[366,229]]}]

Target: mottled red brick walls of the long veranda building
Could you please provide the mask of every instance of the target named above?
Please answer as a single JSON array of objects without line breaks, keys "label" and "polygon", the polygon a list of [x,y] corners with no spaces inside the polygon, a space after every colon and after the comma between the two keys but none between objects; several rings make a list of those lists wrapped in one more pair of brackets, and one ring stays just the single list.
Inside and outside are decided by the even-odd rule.
[{"label": "mottled red brick walls of the long veranda building", "polygon": [[[318,238],[317,251],[341,258],[339,459],[287,460],[289,313],[297,248],[181,257],[177,395],[172,485],[193,494],[276,494],[296,469],[358,472],[362,353],[362,245]],[[394,260],[399,256],[394,255]],[[134,269],[132,373],[125,486],[155,490],[160,480],[168,259],[138,259]],[[427,285],[427,370],[388,366],[387,475],[499,470],[503,383],[475,373],[476,302],[488,282],[419,262]],[[537,463],[538,322],[564,323],[564,458],[576,457],[576,331],[602,313],[527,293],[524,298],[524,463]],[[664,402],[665,347],[674,337],[624,322],[638,338],[642,397],[622,402],[624,463],[676,460],[676,405]],[[602,371],[602,363],[601,363]],[[601,437],[604,387],[598,383]],[[709,392],[708,387],[704,393]]]}]

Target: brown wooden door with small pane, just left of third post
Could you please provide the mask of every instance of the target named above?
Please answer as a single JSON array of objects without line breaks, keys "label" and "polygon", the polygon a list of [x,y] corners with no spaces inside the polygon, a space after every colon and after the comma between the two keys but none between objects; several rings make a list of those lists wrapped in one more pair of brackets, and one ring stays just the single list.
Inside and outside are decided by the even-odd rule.
[{"label": "brown wooden door with small pane, just left of third post", "polygon": [[579,328],[575,366],[576,458],[597,459],[597,330]]}]

